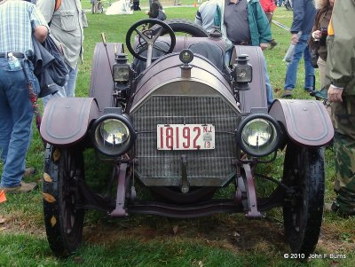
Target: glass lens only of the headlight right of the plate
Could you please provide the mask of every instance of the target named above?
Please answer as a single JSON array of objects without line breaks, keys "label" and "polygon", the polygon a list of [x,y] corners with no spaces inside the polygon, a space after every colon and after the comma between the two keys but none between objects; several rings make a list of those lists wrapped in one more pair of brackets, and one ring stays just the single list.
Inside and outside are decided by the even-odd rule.
[{"label": "glass lens only of the headlight right of the plate", "polygon": [[256,118],[247,122],[241,130],[241,142],[247,153],[265,155],[272,153],[277,142],[277,130],[272,122]]}]

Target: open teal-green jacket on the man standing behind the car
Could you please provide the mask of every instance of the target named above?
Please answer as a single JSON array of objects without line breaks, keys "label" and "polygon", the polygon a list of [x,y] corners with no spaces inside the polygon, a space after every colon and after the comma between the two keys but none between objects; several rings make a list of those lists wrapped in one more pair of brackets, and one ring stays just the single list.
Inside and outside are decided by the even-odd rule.
[{"label": "open teal-green jacket on the man standing behind the car", "polygon": [[[225,23],[225,1],[217,0],[219,7],[221,8],[221,31],[225,38],[226,48],[232,47],[232,42],[228,40]],[[269,43],[272,40],[272,32],[270,29],[269,20],[267,20],[263,8],[261,7],[258,0],[247,0],[248,1],[248,22],[250,30],[251,44],[254,46],[259,46],[260,43]]]}]

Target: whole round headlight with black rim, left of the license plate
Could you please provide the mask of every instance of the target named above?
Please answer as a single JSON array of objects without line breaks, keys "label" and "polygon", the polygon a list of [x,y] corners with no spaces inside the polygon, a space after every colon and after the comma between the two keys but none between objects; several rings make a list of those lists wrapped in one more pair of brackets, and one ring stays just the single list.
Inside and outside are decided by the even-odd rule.
[{"label": "whole round headlight with black rim, left of the license plate", "polygon": [[122,115],[104,115],[93,123],[92,129],[94,146],[108,156],[126,153],[136,138],[130,121]]}]

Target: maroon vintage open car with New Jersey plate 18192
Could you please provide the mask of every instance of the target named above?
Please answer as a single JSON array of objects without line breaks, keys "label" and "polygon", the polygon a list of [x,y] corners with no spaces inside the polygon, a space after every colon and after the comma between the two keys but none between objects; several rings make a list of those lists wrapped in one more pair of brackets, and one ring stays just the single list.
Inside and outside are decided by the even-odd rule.
[{"label": "maroon vintage open car with New Jersey plate 18192", "polygon": [[[325,107],[298,99],[268,106],[260,48],[235,46],[225,66],[220,35],[187,20],[140,20],[125,44],[132,64],[122,43],[103,38],[89,97],[54,98],[45,108],[43,212],[52,251],[75,251],[87,209],[112,217],[256,219],[280,207],[291,251],[311,254],[323,216],[324,146],[334,135]],[[113,173],[100,182],[105,192],[87,182],[88,150],[96,152],[91,169],[105,163]],[[277,157],[284,157],[280,178],[256,177],[259,164]],[[274,190],[259,196],[256,179]],[[233,196],[217,199],[226,186]],[[152,198],[138,198],[139,188]]]}]

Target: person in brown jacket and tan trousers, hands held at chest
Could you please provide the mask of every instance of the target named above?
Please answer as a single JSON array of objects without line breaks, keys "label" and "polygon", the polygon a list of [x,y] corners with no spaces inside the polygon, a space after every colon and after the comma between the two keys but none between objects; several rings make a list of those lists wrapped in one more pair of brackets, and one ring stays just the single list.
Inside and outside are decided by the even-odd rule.
[{"label": "person in brown jacket and tan trousers, hands held at chest", "polygon": [[323,89],[327,84],[327,27],[332,15],[334,0],[315,0],[314,4],[318,12],[312,27],[312,38],[310,38],[309,46],[311,49],[314,48],[319,54],[317,65],[319,69],[320,89]]}]

